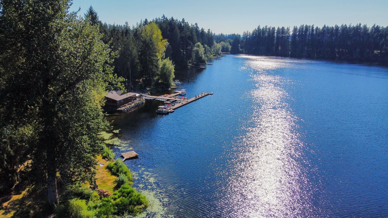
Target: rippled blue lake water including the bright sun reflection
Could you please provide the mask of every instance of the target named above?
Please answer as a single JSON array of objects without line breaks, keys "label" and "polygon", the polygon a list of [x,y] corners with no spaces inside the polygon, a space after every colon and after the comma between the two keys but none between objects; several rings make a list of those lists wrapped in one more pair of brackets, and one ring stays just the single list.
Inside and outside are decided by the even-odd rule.
[{"label": "rippled blue lake water including the bright sun reflection", "polygon": [[[388,217],[388,70],[227,55],[176,72],[188,97],[109,115],[149,217]],[[172,92],[173,90],[171,90]]]}]

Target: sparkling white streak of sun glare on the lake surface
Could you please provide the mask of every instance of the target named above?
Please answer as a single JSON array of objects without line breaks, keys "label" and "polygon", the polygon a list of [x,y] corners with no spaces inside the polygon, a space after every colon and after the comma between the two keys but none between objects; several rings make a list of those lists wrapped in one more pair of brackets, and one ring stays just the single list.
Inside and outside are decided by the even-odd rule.
[{"label": "sparkling white streak of sun glare on the lake surface", "polygon": [[311,217],[298,118],[282,89],[288,81],[271,73],[285,65],[279,59],[252,57],[243,69],[251,73],[256,88],[247,95],[253,108],[245,124],[246,134],[235,145],[239,154],[232,160],[234,173],[222,203],[229,205],[226,216]]}]

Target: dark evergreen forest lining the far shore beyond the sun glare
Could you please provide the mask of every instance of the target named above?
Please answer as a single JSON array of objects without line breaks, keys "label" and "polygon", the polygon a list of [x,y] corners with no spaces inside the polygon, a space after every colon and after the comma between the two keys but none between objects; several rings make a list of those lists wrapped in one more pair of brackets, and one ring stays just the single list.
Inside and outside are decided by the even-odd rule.
[{"label": "dark evergreen forest lining the far shore beyond the sun glare", "polygon": [[230,53],[269,55],[354,63],[388,63],[388,27],[366,24],[361,26],[314,25],[289,27],[264,26],[242,35],[216,36],[217,40],[231,41]]}]

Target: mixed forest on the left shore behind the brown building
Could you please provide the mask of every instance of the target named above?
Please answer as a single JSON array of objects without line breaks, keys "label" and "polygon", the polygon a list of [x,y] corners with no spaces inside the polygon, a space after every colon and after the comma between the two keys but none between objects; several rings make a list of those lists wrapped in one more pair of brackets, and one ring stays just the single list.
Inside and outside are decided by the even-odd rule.
[{"label": "mixed forest on the left shore behind the brown building", "polygon": [[[231,48],[227,42],[216,43],[215,34],[210,29],[205,31],[197,24],[189,24],[185,19],[178,20],[163,15],[152,21],[144,19],[131,27],[127,22],[124,25],[103,24],[92,7],[85,16],[90,18],[93,25],[99,24],[100,33],[103,34],[102,41],[118,53],[113,62],[114,73],[128,81],[127,84],[140,84],[137,88],[141,90],[154,85],[169,87],[173,79],[173,70],[158,71],[159,60],[153,55],[155,52],[150,50],[152,47],[147,45],[145,28],[152,26],[152,31],[147,32],[149,36],[156,32],[159,34],[156,41],[160,43],[158,48],[163,50],[158,53],[159,59],[162,58],[162,64],[166,66],[173,65],[174,69],[206,64],[206,57],[229,52]],[[136,87],[132,85],[131,89],[133,88]]]}]

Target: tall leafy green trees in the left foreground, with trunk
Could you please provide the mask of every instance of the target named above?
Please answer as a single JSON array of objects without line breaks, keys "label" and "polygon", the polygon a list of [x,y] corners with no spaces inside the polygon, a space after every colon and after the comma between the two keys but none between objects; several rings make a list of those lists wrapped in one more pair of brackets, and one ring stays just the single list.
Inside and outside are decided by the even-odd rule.
[{"label": "tall leafy green trees in the left foreground, with trunk", "polygon": [[[1,2],[0,134],[11,137],[0,150],[26,151],[17,155],[31,160],[33,182],[48,185],[50,205],[58,203],[57,184],[93,180],[94,157],[104,148],[97,135],[109,127],[104,92],[123,88],[98,25],[69,13],[68,3]],[[32,140],[14,137],[26,127]]]}]

